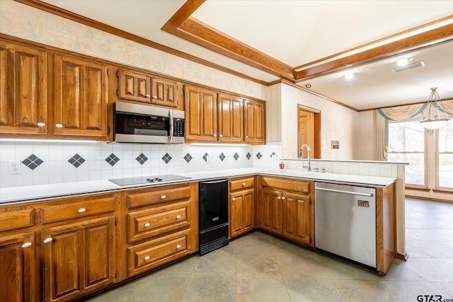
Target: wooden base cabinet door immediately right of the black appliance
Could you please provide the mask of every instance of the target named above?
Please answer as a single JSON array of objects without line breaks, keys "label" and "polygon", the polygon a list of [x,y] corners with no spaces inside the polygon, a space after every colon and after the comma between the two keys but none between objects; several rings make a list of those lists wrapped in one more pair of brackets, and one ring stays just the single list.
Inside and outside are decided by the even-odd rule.
[{"label": "wooden base cabinet door immediately right of the black appliance", "polygon": [[255,190],[230,194],[230,236],[234,238],[255,227]]}]

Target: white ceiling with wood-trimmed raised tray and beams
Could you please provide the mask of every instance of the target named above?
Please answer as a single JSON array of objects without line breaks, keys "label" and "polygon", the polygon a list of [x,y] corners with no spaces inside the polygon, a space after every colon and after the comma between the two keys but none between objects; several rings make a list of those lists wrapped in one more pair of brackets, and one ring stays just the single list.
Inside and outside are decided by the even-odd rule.
[{"label": "white ceiling with wood-trimmed raised tray and beams", "polygon": [[[16,1],[265,85],[311,85],[355,110],[420,103],[431,87],[453,98],[453,0]],[[424,66],[392,72],[403,57]]]}]

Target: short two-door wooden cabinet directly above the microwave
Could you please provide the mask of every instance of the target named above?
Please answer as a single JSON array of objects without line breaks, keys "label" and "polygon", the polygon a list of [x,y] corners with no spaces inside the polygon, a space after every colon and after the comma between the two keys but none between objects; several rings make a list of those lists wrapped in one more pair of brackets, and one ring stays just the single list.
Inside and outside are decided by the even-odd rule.
[{"label": "short two-door wooden cabinet directly above the microwave", "polygon": [[161,105],[183,110],[180,82],[161,79],[151,73],[118,69],[117,97],[122,100]]}]

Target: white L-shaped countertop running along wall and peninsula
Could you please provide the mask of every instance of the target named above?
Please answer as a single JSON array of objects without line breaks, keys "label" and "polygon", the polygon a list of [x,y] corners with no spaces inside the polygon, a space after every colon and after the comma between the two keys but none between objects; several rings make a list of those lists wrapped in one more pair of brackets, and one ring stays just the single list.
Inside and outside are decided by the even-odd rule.
[{"label": "white L-shaped countertop running along wall and peninsula", "polygon": [[354,185],[370,185],[385,187],[396,181],[396,178],[382,178],[377,176],[347,175],[320,172],[304,172],[299,170],[268,170],[257,168],[241,168],[229,170],[203,171],[195,173],[177,173],[187,176],[190,179],[183,179],[171,182],[146,183],[140,185],[120,186],[109,180],[91,180],[84,182],[65,182],[51,185],[33,185],[28,187],[8,187],[0,189],[0,204],[29,202],[40,199],[50,199],[76,194],[90,194],[96,192],[108,192],[114,190],[124,190],[130,187],[151,187],[156,185],[168,185],[178,182],[192,182],[200,180],[210,180],[215,178],[231,178],[242,175],[277,175],[296,178],[307,178],[326,182],[343,182]]}]

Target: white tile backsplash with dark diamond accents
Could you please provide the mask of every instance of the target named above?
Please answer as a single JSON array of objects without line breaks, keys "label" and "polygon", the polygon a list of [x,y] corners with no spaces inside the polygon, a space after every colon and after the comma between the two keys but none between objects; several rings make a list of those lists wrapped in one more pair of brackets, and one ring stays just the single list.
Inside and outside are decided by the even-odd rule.
[{"label": "white tile backsplash with dark diamond accents", "polygon": [[[277,168],[280,144],[107,144],[0,141],[0,187],[231,168]],[[19,161],[21,173],[10,174]]]}]

